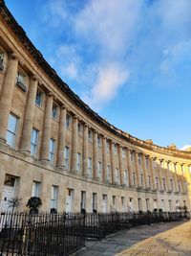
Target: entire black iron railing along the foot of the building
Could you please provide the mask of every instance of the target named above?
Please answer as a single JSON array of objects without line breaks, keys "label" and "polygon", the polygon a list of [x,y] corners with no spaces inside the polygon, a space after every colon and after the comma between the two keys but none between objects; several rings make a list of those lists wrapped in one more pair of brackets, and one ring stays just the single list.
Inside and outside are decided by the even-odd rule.
[{"label": "entire black iron railing along the foot of the building", "polygon": [[0,214],[0,255],[64,256],[85,246],[85,238],[103,239],[120,229],[180,221],[188,213]]}]

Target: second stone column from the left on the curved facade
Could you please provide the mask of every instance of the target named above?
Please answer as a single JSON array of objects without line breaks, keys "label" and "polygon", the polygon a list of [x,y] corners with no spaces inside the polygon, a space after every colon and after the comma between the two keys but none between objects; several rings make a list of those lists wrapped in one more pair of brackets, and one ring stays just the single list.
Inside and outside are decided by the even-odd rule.
[{"label": "second stone column from the left on the curved facade", "polygon": [[38,81],[36,76],[33,76],[30,81],[27,105],[25,110],[25,118],[23,122],[23,131],[21,136],[20,151],[31,153],[31,137],[32,137],[32,124],[35,106],[35,97],[37,91]]}]

